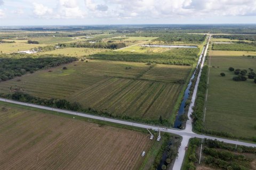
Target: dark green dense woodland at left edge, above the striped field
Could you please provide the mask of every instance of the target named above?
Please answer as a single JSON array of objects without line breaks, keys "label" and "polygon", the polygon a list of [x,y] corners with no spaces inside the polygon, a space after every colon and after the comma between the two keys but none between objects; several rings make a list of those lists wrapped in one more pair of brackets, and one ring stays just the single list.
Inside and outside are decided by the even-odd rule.
[{"label": "dark green dense woodland at left edge, above the striped field", "polygon": [[14,77],[21,76],[27,72],[33,73],[44,67],[54,67],[61,64],[67,64],[76,61],[75,57],[21,57],[17,54],[0,55],[0,81],[10,80]]}]

